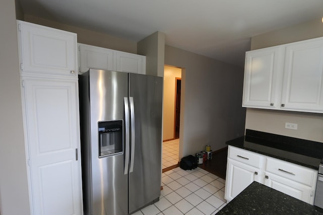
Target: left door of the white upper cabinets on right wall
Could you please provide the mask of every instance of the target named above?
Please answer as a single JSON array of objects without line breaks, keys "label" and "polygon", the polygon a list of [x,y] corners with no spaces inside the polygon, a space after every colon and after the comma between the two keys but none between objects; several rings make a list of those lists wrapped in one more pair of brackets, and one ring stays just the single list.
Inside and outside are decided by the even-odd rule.
[{"label": "left door of the white upper cabinets on right wall", "polygon": [[[246,52],[243,106],[275,107],[280,91],[282,47]],[[277,89],[278,88],[278,89]]]}]

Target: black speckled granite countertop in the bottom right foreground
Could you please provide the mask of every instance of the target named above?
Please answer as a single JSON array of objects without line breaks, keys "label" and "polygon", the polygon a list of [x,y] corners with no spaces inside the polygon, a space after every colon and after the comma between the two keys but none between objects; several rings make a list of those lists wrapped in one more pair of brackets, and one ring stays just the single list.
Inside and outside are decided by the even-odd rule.
[{"label": "black speckled granite countertop in the bottom right foreground", "polygon": [[298,200],[258,182],[223,207],[220,214],[323,214],[323,209]]}]

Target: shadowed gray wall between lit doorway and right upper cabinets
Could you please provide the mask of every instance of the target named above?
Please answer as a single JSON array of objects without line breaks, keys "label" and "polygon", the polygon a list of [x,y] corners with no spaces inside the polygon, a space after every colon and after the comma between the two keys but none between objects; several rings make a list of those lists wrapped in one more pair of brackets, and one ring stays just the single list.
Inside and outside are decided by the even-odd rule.
[{"label": "shadowed gray wall between lit doorway and right upper cabinets", "polygon": [[244,134],[243,68],[171,46],[165,64],[183,68],[180,158]]}]

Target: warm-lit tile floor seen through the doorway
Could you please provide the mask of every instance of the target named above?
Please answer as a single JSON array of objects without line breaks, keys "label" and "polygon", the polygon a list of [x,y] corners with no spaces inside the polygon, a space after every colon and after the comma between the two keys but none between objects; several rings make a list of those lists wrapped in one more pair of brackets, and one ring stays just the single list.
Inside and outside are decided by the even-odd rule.
[{"label": "warm-lit tile floor seen through the doorway", "polygon": [[163,169],[178,164],[180,139],[163,142]]}]

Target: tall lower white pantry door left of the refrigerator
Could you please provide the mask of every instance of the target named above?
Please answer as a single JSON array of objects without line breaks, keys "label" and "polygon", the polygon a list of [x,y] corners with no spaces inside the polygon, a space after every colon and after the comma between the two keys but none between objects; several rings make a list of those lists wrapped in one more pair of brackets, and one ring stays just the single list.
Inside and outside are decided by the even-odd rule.
[{"label": "tall lower white pantry door left of the refrigerator", "polygon": [[35,214],[81,214],[77,81],[24,80]]}]

